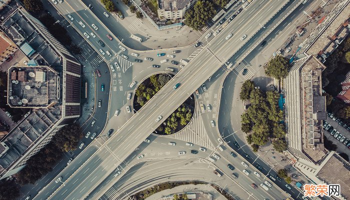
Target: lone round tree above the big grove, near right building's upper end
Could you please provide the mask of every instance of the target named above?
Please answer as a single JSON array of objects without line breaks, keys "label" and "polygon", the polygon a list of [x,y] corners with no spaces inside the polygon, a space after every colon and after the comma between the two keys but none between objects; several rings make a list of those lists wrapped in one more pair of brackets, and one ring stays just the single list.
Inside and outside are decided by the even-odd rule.
[{"label": "lone round tree above the big grove, near right building's upper end", "polygon": [[276,79],[283,79],[288,75],[289,66],[287,58],[277,55],[268,61],[265,73]]}]

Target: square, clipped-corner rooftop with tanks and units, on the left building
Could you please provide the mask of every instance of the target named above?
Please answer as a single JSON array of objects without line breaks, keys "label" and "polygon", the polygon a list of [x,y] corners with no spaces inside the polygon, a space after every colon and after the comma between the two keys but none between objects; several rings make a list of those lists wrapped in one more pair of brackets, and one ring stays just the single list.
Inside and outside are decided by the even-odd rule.
[{"label": "square, clipped-corner rooftop with tanks and units, on the left building", "polygon": [[59,73],[47,66],[12,66],[7,84],[11,107],[47,107],[59,99]]}]

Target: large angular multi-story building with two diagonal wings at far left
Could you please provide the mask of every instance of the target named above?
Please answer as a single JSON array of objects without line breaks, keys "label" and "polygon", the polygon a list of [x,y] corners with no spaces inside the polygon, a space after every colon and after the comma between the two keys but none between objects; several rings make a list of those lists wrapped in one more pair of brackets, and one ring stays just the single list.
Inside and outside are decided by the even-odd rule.
[{"label": "large angular multi-story building with two diagonal wings at far left", "polygon": [[32,111],[0,140],[0,179],[21,170],[80,115],[79,62],[22,7],[8,11],[0,27],[30,59],[30,66],[8,69],[7,102]]}]

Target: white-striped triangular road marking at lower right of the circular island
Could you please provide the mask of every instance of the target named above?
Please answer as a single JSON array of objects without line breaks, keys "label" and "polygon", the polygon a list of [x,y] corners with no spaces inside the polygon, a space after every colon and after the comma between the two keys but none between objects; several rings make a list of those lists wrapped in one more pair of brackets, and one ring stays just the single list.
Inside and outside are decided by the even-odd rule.
[{"label": "white-striped triangular road marking at lower right of the circular island", "polygon": [[195,109],[192,121],[182,131],[171,135],[171,137],[214,149],[205,131],[199,109]]}]

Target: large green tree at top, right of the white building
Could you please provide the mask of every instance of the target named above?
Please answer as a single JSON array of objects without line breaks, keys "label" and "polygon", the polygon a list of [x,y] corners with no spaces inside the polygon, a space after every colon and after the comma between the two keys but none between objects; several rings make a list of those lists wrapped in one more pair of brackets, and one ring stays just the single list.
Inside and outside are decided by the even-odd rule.
[{"label": "large green tree at top, right of the white building", "polygon": [[216,14],[211,1],[198,0],[185,15],[185,23],[195,30],[201,30],[208,19]]}]

